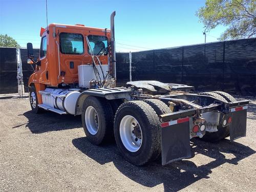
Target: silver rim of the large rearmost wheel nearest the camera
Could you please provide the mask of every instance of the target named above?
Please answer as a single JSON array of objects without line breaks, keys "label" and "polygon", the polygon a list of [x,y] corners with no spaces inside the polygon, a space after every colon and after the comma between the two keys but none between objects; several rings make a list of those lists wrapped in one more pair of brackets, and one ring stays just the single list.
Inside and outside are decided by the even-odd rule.
[{"label": "silver rim of the large rearmost wheel nearest the camera", "polygon": [[124,116],[119,131],[124,147],[130,152],[137,152],[142,144],[142,131],[137,119],[131,115]]}]

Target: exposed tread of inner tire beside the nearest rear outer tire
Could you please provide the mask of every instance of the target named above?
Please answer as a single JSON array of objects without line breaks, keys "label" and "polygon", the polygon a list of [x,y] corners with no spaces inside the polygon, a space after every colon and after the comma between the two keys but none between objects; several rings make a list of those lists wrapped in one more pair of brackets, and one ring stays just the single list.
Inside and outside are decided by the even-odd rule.
[{"label": "exposed tread of inner tire beside the nearest rear outer tire", "polygon": [[170,111],[168,106],[163,101],[160,101],[158,99],[145,99],[143,101],[149,104],[154,109],[158,116],[167,113],[172,113],[172,111]]}]

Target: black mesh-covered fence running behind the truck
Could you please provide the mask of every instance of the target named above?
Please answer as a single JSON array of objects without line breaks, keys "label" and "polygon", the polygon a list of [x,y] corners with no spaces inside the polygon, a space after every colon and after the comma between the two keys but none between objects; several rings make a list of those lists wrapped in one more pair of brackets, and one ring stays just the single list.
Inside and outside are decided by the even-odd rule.
[{"label": "black mesh-covered fence running behind the truck", "polygon": [[[39,50],[34,50],[38,57]],[[33,73],[27,50],[20,49],[23,81]],[[116,54],[117,83],[130,80],[129,53]],[[199,91],[222,90],[256,96],[256,38],[132,53],[132,80],[159,80],[194,86]],[[0,93],[17,93],[15,48],[0,48]]]}]

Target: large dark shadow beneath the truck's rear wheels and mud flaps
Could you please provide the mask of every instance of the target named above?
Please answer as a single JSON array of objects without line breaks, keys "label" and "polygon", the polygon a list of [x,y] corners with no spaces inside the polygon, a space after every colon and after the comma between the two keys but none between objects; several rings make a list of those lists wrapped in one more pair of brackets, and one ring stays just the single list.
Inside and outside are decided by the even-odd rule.
[{"label": "large dark shadow beneath the truck's rear wheels and mud flaps", "polygon": [[[212,169],[224,163],[236,165],[240,160],[255,153],[250,147],[227,139],[214,144],[195,139],[191,142],[192,152],[196,156],[201,154],[209,157],[210,162],[197,166],[193,159],[190,159],[162,166],[159,160],[147,166],[135,166],[123,159],[115,144],[95,146],[86,137],[73,139],[72,142],[78,150],[99,164],[113,162],[116,168],[131,180],[147,187],[163,183],[164,191],[178,191],[200,179],[207,179]],[[231,155],[232,158],[226,158],[224,154]]]}]

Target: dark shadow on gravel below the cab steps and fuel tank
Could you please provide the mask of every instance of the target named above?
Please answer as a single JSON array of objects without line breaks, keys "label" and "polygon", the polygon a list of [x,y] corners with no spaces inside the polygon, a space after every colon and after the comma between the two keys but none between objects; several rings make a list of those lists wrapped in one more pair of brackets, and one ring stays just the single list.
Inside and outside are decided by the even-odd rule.
[{"label": "dark shadow on gravel below the cab steps and fuel tank", "polygon": [[80,115],[59,115],[51,111],[44,111],[42,114],[34,114],[32,111],[27,111],[23,116],[28,119],[28,122],[16,125],[12,127],[13,129],[26,124],[26,127],[32,133],[39,134],[82,127]]}]

